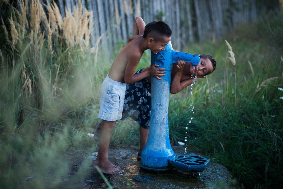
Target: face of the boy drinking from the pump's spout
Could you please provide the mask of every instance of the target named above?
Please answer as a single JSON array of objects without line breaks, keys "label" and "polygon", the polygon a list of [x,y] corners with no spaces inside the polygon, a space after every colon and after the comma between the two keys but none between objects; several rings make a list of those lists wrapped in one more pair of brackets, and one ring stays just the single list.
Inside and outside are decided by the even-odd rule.
[{"label": "face of the boy drinking from the pump's spout", "polygon": [[196,76],[208,75],[212,72],[213,66],[209,58],[201,58],[197,66],[193,66],[191,63],[186,63],[190,73],[194,73]]}]

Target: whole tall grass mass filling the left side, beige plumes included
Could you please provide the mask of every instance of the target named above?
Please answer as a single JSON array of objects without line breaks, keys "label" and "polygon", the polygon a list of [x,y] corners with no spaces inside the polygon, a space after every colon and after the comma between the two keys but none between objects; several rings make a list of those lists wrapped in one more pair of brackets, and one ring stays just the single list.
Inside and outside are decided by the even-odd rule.
[{"label": "whole tall grass mass filling the left side, beige plumes included", "polygon": [[[98,122],[99,88],[111,65],[93,64],[110,61],[90,46],[92,12],[83,13],[81,2],[64,19],[55,2],[19,0],[18,7],[9,23],[1,19],[0,188],[58,188],[69,177],[65,152],[96,148],[87,133]],[[66,187],[91,159],[85,164]]]}]

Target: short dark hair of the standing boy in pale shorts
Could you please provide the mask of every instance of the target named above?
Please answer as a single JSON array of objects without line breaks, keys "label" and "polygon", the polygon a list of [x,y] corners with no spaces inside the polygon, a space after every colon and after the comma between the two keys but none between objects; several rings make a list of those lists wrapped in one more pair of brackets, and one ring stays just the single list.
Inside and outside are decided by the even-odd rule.
[{"label": "short dark hair of the standing boy in pale shorts", "polygon": [[154,41],[162,41],[164,37],[171,37],[172,30],[163,21],[153,21],[145,26],[143,38],[153,38]]}]

